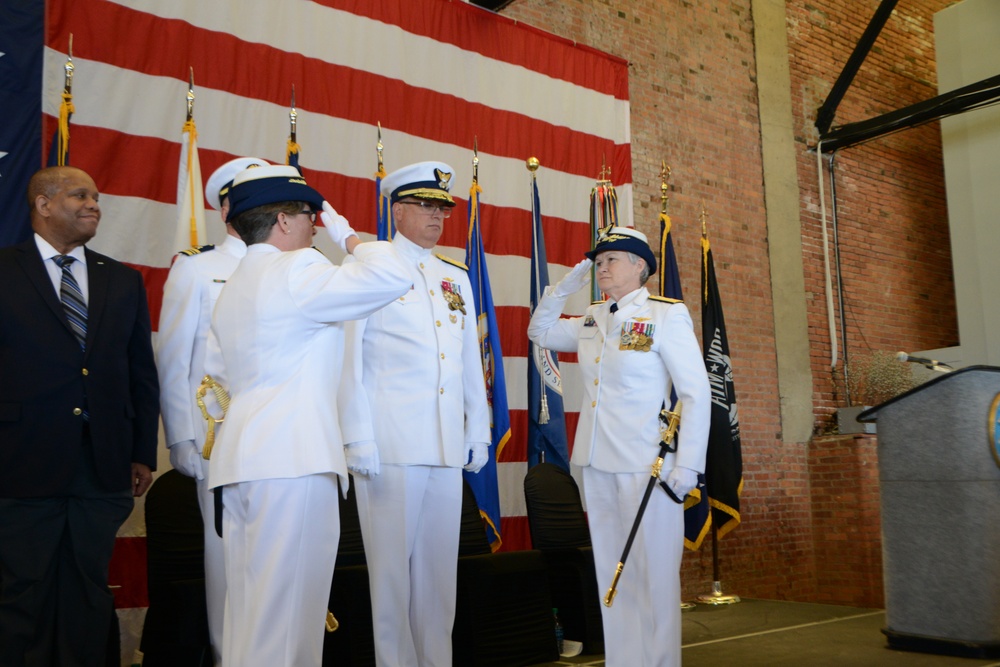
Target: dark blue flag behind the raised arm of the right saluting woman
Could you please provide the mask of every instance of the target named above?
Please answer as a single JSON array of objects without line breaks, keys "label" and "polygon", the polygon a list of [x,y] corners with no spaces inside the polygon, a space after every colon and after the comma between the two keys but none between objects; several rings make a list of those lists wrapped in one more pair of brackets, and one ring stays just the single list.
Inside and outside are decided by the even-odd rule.
[{"label": "dark blue flag behind the raised arm of the right saluting woman", "polygon": [[[534,175],[531,178],[531,190],[531,312],[534,312],[549,285],[549,265],[545,257],[542,207]],[[555,352],[529,341],[528,467],[542,460],[569,471],[559,359]]]}]

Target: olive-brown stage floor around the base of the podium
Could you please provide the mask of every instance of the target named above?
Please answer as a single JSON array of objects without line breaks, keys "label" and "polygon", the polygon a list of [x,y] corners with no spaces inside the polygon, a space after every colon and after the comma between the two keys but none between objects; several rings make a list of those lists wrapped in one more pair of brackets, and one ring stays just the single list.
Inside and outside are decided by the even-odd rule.
[{"label": "olive-brown stage floor around the base of the podium", "polygon": [[[682,615],[684,667],[1000,667],[997,660],[887,648],[885,612],[825,604],[743,600]],[[604,667],[577,656],[536,667]]]}]

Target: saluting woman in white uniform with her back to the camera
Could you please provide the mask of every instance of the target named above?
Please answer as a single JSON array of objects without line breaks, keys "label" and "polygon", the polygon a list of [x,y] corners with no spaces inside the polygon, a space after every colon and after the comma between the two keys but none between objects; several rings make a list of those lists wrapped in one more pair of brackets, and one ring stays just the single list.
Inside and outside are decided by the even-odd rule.
[{"label": "saluting woman in white uniform with her back to the camera", "polygon": [[[230,202],[247,254],[212,317],[222,363],[208,360],[231,393],[208,474],[223,492],[223,665],[318,666],[338,477],[348,479],[336,401],[343,322],[408,292],[411,278],[388,243],[359,243],[294,167],[240,172]],[[310,247],[321,209],[354,263],[334,266]]]}]

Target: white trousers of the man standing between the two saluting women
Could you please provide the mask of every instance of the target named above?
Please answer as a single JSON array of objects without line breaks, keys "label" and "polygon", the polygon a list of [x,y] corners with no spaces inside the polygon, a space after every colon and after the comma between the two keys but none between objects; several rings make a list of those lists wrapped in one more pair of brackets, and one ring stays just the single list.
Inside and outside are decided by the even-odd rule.
[{"label": "white trousers of the man standing between the two saluting women", "polygon": [[462,470],[382,465],[355,477],[379,667],[451,667]]}]

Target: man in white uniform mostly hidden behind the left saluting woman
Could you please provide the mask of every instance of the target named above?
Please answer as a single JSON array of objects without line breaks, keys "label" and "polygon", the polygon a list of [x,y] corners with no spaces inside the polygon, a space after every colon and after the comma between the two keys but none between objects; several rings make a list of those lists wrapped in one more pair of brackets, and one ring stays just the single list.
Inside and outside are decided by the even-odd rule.
[{"label": "man in white uniform mostly hidden behind the left saluting woman", "polygon": [[205,592],[208,629],[215,662],[222,648],[222,614],[226,604],[226,573],[222,538],[215,532],[213,494],[205,481],[208,463],[201,452],[205,420],[195,392],[205,376],[205,341],[212,309],[222,286],[247,253],[247,246],[226,220],[229,188],[237,173],[268,162],[255,157],[230,160],[215,170],[205,185],[205,201],[222,214],[226,239],[221,244],[182,250],[174,257],[163,286],[160,330],[156,336],[156,366],[160,376],[160,411],[170,450],[170,464],[198,480],[198,504],[205,523]]}]

